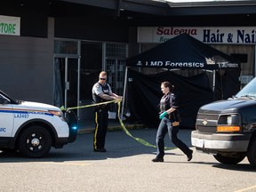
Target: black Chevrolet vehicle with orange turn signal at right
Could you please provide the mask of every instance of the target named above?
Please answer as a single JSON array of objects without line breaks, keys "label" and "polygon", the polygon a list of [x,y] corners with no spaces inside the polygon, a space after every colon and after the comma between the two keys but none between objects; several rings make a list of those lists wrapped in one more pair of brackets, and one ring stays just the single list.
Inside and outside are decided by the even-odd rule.
[{"label": "black Chevrolet vehicle with orange turn signal at right", "polygon": [[238,164],[247,156],[256,167],[256,77],[233,98],[199,108],[191,143],[221,164]]}]

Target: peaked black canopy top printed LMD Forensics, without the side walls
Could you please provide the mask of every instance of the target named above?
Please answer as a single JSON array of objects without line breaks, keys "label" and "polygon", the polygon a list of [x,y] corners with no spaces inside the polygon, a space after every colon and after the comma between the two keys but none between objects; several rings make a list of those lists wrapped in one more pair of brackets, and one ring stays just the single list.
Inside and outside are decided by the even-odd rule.
[{"label": "peaked black canopy top printed LMD Forensics, without the side walls", "polygon": [[126,60],[127,67],[239,69],[240,63],[227,54],[187,34],[180,34]]}]

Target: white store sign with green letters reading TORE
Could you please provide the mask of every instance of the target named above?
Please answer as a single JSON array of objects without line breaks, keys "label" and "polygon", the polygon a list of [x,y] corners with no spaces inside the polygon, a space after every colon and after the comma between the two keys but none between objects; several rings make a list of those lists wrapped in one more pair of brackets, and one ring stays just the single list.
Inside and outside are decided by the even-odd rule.
[{"label": "white store sign with green letters reading TORE", "polygon": [[20,18],[0,15],[0,35],[20,36]]}]

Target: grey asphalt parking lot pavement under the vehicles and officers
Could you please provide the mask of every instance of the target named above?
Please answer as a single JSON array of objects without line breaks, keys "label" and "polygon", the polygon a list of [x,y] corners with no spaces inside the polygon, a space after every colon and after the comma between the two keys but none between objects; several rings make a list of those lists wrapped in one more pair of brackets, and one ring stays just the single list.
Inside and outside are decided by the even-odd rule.
[{"label": "grey asphalt parking lot pavement under the vehicles and officers", "polygon": [[[112,127],[111,124],[110,128]],[[82,127],[80,127],[82,128]],[[86,128],[93,128],[87,124]],[[83,130],[83,129],[82,129]],[[107,133],[106,153],[93,152],[93,133],[81,133],[64,148],[52,148],[44,158],[30,159],[19,153],[0,152],[0,190],[4,192],[251,192],[256,191],[256,172],[247,159],[223,165],[213,156],[191,146],[191,130],[179,137],[194,150],[188,162],[179,148],[165,137],[164,163],[153,163],[156,128]]]}]

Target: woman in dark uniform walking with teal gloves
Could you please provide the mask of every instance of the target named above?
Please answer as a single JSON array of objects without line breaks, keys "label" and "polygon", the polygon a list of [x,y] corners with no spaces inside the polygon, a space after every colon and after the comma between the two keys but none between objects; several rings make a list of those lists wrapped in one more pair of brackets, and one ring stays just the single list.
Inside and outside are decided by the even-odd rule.
[{"label": "woman in dark uniform walking with teal gloves", "polygon": [[164,96],[160,100],[160,115],[161,122],[156,133],[156,157],[153,162],[164,162],[164,136],[168,132],[172,143],[180,148],[187,156],[188,161],[192,159],[193,150],[178,138],[180,113],[178,110],[177,96],[173,92],[174,86],[169,82],[161,83],[161,91]]}]

